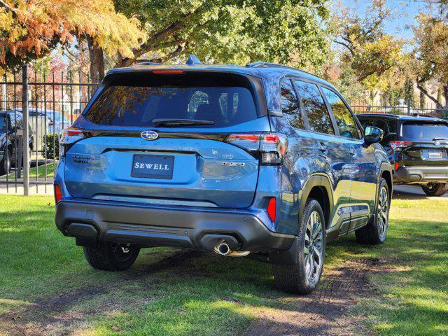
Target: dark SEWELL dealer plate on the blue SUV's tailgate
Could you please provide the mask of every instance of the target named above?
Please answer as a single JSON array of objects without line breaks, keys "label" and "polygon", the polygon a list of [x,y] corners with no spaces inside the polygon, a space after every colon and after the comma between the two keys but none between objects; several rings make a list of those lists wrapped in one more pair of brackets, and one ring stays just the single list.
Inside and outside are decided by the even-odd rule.
[{"label": "dark SEWELL dealer plate on the blue SUV's tailgate", "polygon": [[174,156],[135,154],[132,160],[132,177],[151,179],[172,179]]}]

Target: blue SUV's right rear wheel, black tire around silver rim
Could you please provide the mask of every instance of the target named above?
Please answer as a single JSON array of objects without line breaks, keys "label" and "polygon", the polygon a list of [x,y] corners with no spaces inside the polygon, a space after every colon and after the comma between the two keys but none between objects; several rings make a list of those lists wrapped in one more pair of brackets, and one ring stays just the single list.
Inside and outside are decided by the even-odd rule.
[{"label": "blue SUV's right rear wheel, black tire around silver rim", "polygon": [[[317,231],[318,235],[320,235],[320,240],[311,239],[314,241],[310,241],[309,237],[313,237],[313,235],[309,235],[309,221],[311,216],[316,215],[321,224],[320,230]],[[311,224],[311,227],[312,226],[313,225]],[[299,246],[297,262],[295,265],[274,264],[272,265],[272,271],[274,272],[275,284],[280,290],[287,293],[308,294],[318,285],[322,275],[323,262],[325,260],[325,217],[323,216],[321,204],[314,199],[309,199],[304,209],[302,221],[300,223],[298,241]],[[309,248],[309,246],[318,246],[318,250],[320,246],[321,257],[316,258],[318,255],[314,254],[308,254],[307,256],[305,253],[306,246],[308,251],[314,251],[314,248]],[[311,264],[308,261],[316,262],[316,260],[319,260],[318,267],[314,264],[313,267],[315,268],[310,269],[309,267]]]}]

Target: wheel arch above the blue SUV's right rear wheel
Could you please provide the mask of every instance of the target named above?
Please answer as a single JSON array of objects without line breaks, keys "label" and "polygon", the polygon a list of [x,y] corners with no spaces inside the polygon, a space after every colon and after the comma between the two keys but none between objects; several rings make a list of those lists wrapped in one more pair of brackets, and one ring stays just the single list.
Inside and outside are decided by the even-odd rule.
[{"label": "wheel arch above the blue SUV's right rear wheel", "polygon": [[312,198],[321,204],[325,225],[328,227],[330,223],[330,214],[333,206],[333,197],[331,192],[330,180],[327,176],[318,174],[311,176],[302,189],[302,197],[300,197],[299,223],[302,220],[304,209],[307,201]]}]

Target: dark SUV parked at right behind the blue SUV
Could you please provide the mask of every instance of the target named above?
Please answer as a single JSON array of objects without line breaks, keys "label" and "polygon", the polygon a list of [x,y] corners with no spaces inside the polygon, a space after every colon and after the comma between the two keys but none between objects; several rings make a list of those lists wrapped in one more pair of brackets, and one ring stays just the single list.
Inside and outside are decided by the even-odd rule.
[{"label": "dark SUV parked at right behind the blue SUV", "polygon": [[433,117],[363,114],[364,126],[384,131],[381,145],[394,165],[393,183],[419,184],[427,195],[448,191],[448,121]]}]

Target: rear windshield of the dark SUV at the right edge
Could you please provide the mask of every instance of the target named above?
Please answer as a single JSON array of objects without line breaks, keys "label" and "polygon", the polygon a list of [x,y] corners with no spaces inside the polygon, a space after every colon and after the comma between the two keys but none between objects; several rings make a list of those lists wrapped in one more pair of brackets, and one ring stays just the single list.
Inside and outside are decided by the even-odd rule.
[{"label": "rear windshield of the dark SUV at the right edge", "polygon": [[402,137],[411,141],[433,141],[436,138],[448,139],[448,125],[444,123],[404,123]]}]

